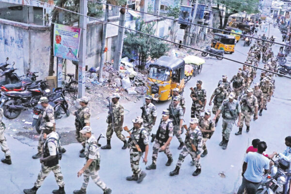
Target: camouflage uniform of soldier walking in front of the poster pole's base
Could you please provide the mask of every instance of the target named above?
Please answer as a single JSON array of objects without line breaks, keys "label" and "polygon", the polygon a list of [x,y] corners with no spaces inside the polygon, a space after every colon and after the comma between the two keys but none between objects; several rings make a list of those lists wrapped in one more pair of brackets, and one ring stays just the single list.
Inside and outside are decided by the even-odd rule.
[{"label": "camouflage uniform of soldier walking in front of the poster pole's base", "polygon": [[[86,123],[90,123],[91,113],[90,113],[90,108],[88,106],[81,107],[81,109],[79,109],[77,113],[80,117],[83,127],[85,127]],[[86,139],[80,134],[80,130],[82,130],[83,127],[80,126],[80,123],[77,120],[75,120],[75,127],[76,127],[75,136],[76,136],[77,141],[80,143],[86,141]]]}]

